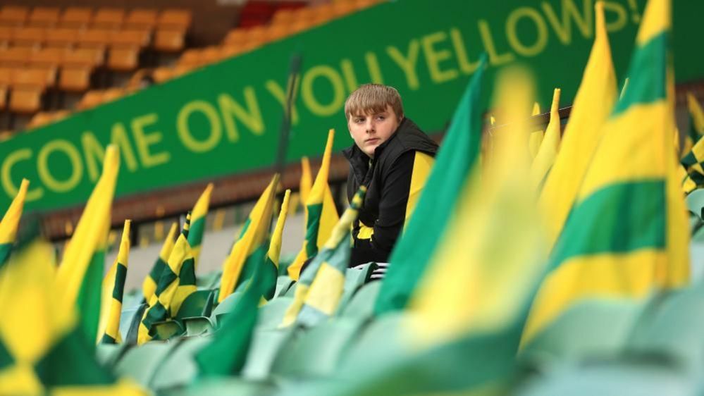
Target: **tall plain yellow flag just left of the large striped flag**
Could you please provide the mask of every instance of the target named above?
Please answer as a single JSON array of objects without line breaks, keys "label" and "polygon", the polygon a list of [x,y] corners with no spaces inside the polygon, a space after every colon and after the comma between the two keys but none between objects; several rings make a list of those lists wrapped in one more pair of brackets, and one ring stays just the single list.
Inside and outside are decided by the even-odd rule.
[{"label": "tall plain yellow flag just left of the large striped flag", "polygon": [[603,3],[595,4],[595,38],[564,129],[560,153],[545,180],[538,206],[545,216],[548,249],[555,245],[617,98]]}]

